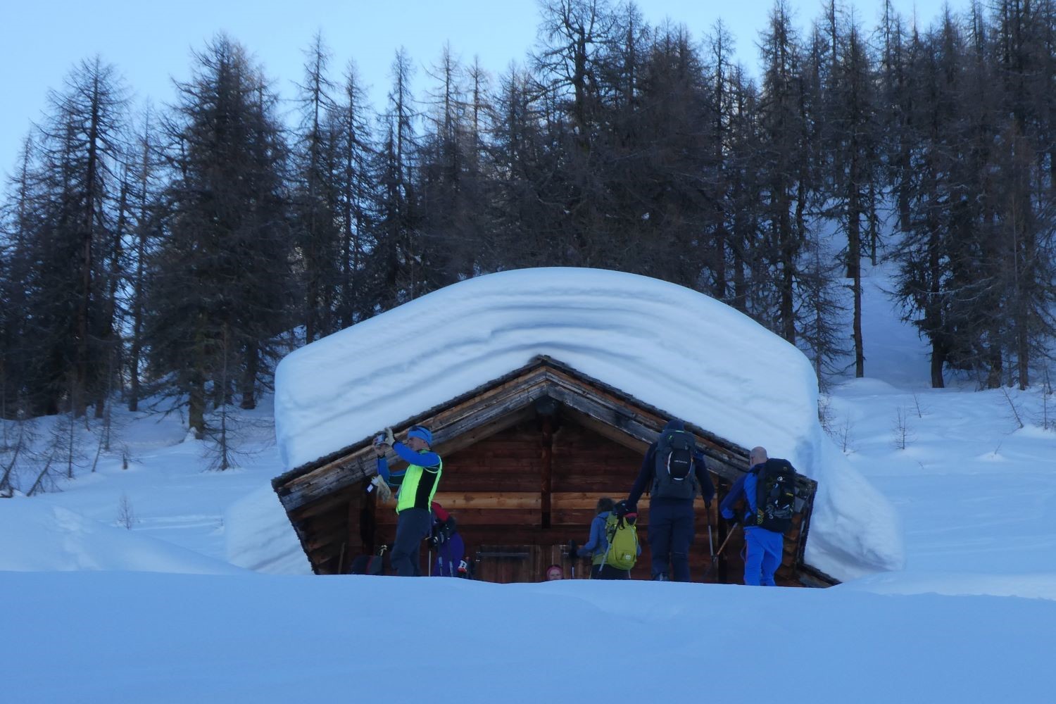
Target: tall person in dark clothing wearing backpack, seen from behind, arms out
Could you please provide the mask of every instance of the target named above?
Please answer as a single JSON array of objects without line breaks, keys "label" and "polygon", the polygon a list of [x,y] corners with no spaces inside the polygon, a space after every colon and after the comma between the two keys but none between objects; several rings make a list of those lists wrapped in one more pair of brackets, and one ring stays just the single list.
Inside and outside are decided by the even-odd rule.
[{"label": "tall person in dark clothing wearing backpack, seen from behind, arms out", "polygon": [[653,578],[690,581],[690,546],[696,515],[693,500],[699,493],[711,510],[715,486],[708,475],[697,439],[681,420],[670,420],[649,445],[627,496],[627,512],[637,517],[638,499],[649,489],[649,550]]}]

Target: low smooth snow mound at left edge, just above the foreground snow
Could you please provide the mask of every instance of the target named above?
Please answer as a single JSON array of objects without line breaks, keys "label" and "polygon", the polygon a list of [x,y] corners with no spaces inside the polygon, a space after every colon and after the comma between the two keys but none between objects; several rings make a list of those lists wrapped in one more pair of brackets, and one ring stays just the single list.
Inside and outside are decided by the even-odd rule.
[{"label": "low smooth snow mound at left edge, just above the foreground snow", "polygon": [[0,499],[0,571],[130,570],[235,574],[242,570],[40,498]]}]

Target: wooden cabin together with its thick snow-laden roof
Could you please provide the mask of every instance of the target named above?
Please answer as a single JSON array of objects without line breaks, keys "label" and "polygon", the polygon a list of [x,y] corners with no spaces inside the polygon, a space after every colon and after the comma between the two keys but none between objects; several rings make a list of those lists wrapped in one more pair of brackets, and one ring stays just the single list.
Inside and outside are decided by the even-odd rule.
[{"label": "wooden cabin together with its thick snow-laden roof", "polygon": [[[413,424],[444,457],[436,500],[456,518],[476,577],[538,582],[583,544],[601,496],[627,495],[670,418],[698,438],[724,496],[766,445],[800,471],[778,579],[832,584],[807,559],[817,465],[816,382],[798,350],[731,308],[664,282],[530,269],[461,282],[307,345],[280,364],[276,423],[286,473],[272,487],[319,574],[391,543],[396,515],[367,492],[372,437]],[[396,467],[396,465],[394,465]],[[639,503],[648,578],[648,499]],[[738,582],[741,536],[697,499],[695,579]],[[825,540],[823,539],[823,544]],[[826,554],[824,551],[821,555]],[[421,567],[428,560],[422,546]],[[585,576],[587,562],[576,563]]]}]

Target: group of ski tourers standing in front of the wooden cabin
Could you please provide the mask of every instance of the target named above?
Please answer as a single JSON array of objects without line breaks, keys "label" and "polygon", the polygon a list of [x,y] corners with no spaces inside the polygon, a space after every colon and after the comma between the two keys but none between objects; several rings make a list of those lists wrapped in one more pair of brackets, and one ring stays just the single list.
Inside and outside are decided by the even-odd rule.
[{"label": "group of ski tourers standing in front of the wooden cabin", "polygon": [[[455,518],[433,500],[444,474],[444,460],[432,445],[433,435],[423,425],[411,426],[404,440],[397,440],[392,429],[375,437],[377,476],[372,488],[377,488],[382,498],[396,497],[396,536],[390,548],[390,564],[399,576],[419,576],[418,551],[428,540],[430,575],[471,578],[471,562],[466,559]],[[407,462],[407,468],[391,470],[390,452]],[[746,585],[775,584],[784,534],[792,525],[795,510],[795,469],[788,460],[770,458],[766,449],[754,448],[749,455],[749,471],[734,482],[719,506],[731,535],[738,525],[743,528]],[[650,576],[655,581],[690,582],[690,548],[695,537],[693,503],[699,494],[710,513],[715,486],[696,438],[677,419],[668,421],[649,445],[627,498],[598,500],[587,541],[583,546],[569,543],[573,570],[577,559],[589,557],[590,578],[630,578],[630,569],[641,555],[638,501],[646,492]],[[712,554],[713,567],[724,547]],[[353,572],[380,574],[381,560],[380,555],[361,556]],[[562,567],[550,565],[545,577],[563,578]]]}]

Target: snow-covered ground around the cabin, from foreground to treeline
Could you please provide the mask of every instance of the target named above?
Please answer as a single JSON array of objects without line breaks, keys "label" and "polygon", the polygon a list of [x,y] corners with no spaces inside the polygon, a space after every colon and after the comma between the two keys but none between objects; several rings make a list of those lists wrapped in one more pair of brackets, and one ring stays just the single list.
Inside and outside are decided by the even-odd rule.
[{"label": "snow-covered ground around the cabin, from foreground to treeline", "polygon": [[1042,392],[928,388],[926,348],[876,285],[868,377],[834,385],[829,424],[895,507],[904,571],[829,590],[315,577],[271,520],[268,408],[247,423],[258,454],[223,473],[178,418],[140,416],[121,431],[131,469],[107,457],[61,492],[0,499],[0,699],[721,701],[758,696],[769,655],[770,687],[817,702],[1049,701]]}]

